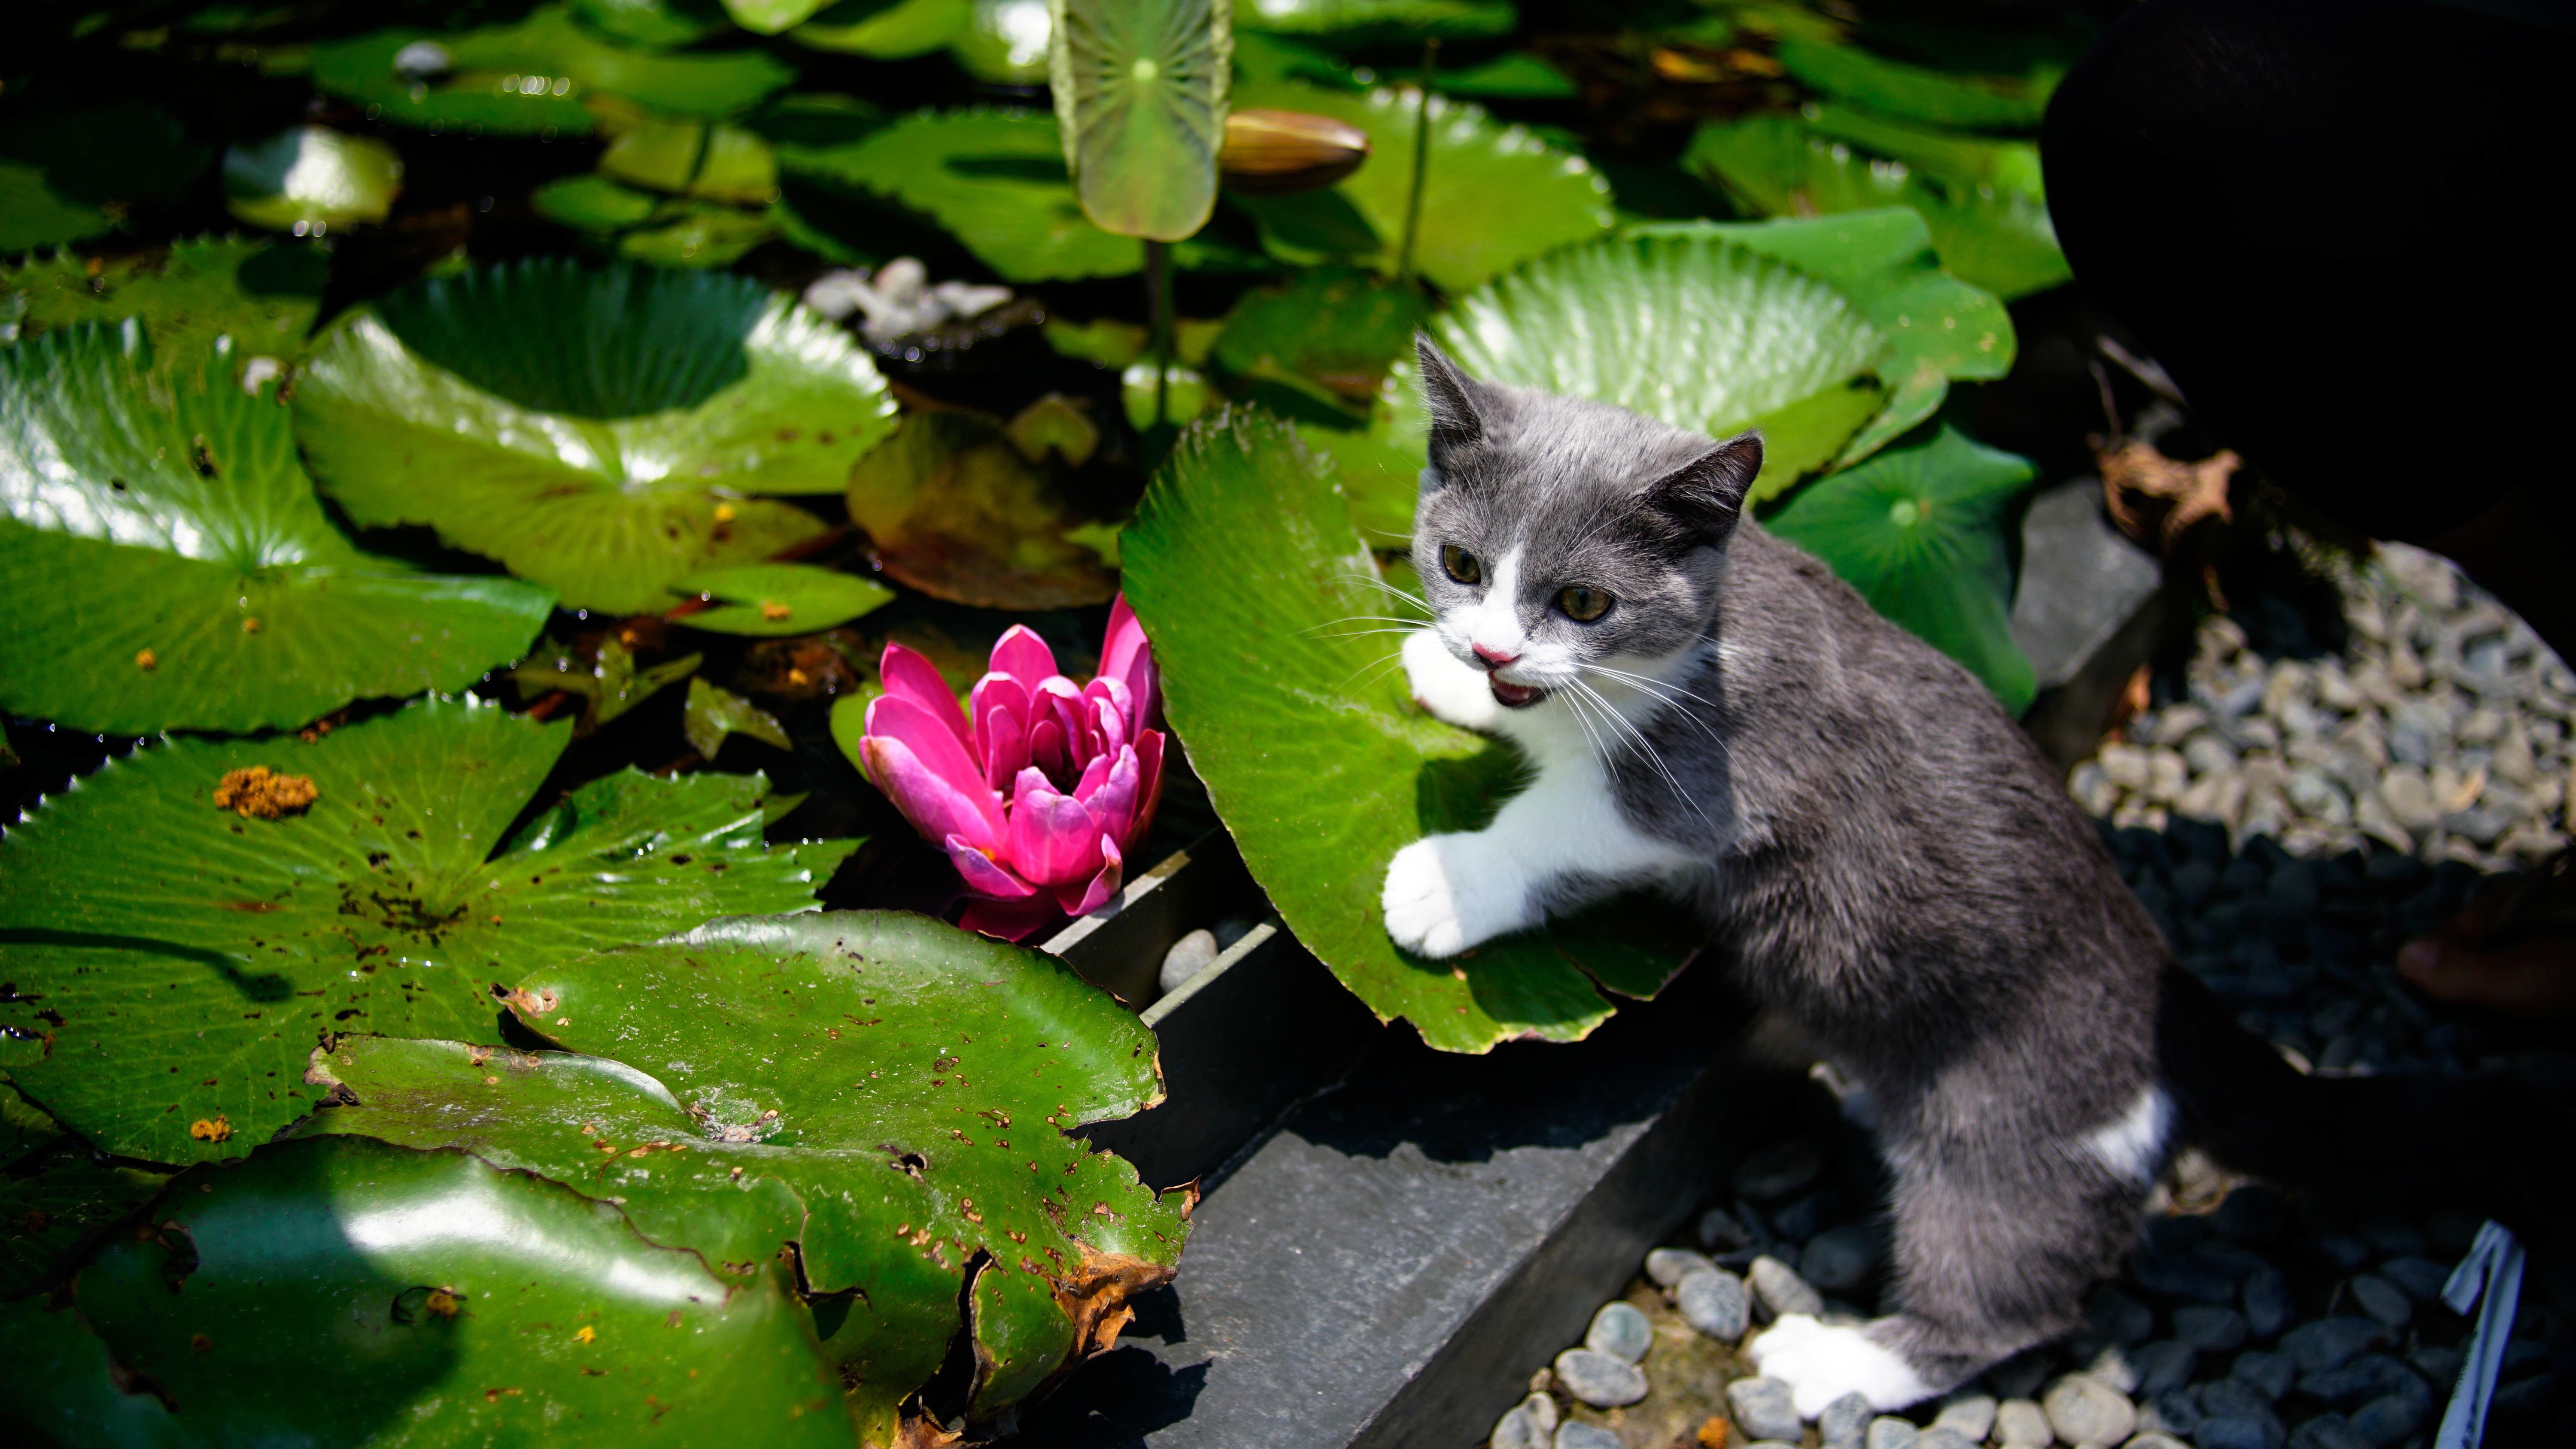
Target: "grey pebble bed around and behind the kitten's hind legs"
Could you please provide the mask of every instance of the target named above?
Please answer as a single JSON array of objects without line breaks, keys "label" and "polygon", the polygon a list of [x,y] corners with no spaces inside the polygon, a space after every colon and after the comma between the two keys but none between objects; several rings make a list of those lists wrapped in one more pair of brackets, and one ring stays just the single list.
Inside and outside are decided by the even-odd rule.
[{"label": "grey pebble bed around and behind the kitten's hind legs", "polygon": [[[2130,721],[2071,793],[2184,965],[2306,1071],[2481,1071],[2517,1048],[2398,986],[2396,947],[2558,849],[2576,677],[2450,564],[2385,548],[2344,582],[2349,646],[2264,659],[2200,631],[2187,697]],[[1492,1449],[2424,1449],[2470,1320],[2442,1302],[2478,1217],[2321,1220],[2182,1153],[2087,1331],[1958,1392],[1801,1421],[1741,1343],[1780,1313],[1865,1320],[1886,1228],[1832,1073],[1687,1243],[1538,1367]],[[2576,1444],[2576,1274],[2535,1246],[2486,1444]]]}]

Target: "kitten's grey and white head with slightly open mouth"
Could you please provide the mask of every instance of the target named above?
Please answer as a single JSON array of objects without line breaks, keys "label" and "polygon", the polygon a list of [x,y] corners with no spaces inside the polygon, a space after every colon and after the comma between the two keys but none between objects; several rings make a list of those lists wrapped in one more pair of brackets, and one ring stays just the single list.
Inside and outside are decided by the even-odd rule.
[{"label": "kitten's grey and white head with slightly open mouth", "polygon": [[[1716,613],[1762,438],[1713,443],[1651,417],[1479,383],[1414,337],[1430,466],[1414,569],[1440,643],[1512,708],[1674,656]],[[1600,679],[1592,679],[1595,685]]]}]

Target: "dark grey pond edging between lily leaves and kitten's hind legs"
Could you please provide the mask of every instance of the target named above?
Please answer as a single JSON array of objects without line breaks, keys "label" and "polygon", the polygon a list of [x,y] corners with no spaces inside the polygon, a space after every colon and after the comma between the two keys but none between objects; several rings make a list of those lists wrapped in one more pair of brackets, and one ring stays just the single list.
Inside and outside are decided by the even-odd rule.
[{"label": "dark grey pond edging between lily leaves and kitten's hind legs", "polygon": [[1795,1081],[1739,1060],[1749,1009],[1705,965],[1584,1042],[1430,1050],[1280,929],[1221,831],[1048,947],[1136,1004],[1221,916],[1262,924],[1146,1009],[1164,1104],[1082,1132],[1157,1186],[1200,1181],[1180,1277],[1015,1444],[1463,1444]]}]

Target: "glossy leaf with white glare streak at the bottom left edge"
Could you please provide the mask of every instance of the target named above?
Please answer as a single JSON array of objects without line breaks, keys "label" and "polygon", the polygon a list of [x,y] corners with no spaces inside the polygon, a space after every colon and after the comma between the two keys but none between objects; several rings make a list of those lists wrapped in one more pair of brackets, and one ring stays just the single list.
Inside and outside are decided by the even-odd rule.
[{"label": "glossy leaf with white glare streak at the bottom left edge", "polygon": [[719,1277],[471,1156],[281,1143],[155,1220],[75,1305],[201,1444],[853,1441],[788,1266]]}]

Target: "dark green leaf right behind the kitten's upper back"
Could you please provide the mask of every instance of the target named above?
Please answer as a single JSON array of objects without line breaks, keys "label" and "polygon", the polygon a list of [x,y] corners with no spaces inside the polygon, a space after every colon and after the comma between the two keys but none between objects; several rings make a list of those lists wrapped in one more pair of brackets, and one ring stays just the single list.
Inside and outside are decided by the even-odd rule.
[{"label": "dark green leaf right behind the kitten's upper back", "polygon": [[1770,530],[1824,558],[1870,607],[1965,664],[2020,715],[2038,692],[2012,641],[2004,522],[2030,458],[1968,440],[1947,422],[1788,499]]}]

